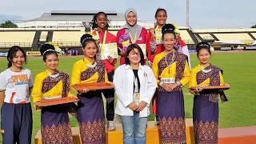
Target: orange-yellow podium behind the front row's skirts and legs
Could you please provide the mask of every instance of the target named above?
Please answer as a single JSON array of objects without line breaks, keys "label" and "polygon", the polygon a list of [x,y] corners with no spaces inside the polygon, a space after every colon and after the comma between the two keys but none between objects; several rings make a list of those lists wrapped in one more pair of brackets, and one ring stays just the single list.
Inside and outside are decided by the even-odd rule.
[{"label": "orange-yellow podium behind the front row's skirts and legs", "polygon": [[[81,144],[78,127],[72,127],[74,144]],[[41,131],[34,138],[35,144],[42,144]],[[192,118],[186,118],[186,143],[194,144]],[[256,126],[234,127],[218,130],[220,144],[256,144]],[[116,130],[106,130],[106,144],[122,144],[122,125],[116,124]],[[160,144],[158,126],[153,121],[147,122],[146,144]]]}]

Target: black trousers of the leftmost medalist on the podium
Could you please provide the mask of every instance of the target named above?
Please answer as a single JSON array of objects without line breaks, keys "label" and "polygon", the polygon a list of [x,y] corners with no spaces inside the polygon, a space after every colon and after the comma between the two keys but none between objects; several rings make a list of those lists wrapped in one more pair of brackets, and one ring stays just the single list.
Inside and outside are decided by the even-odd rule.
[{"label": "black trousers of the leftmost medalist on the podium", "polygon": [[[110,82],[113,82],[114,71],[107,73]],[[102,93],[106,98],[106,119],[108,121],[114,120],[114,89],[103,90]]]}]

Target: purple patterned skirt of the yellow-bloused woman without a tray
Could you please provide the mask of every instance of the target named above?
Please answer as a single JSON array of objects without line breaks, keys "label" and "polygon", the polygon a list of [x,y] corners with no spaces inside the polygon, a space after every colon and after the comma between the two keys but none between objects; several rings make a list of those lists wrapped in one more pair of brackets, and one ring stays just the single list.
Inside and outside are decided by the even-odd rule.
[{"label": "purple patterned skirt of the yellow-bloused woman without a tray", "polygon": [[186,122],[182,91],[157,91],[162,144],[186,143]]}]

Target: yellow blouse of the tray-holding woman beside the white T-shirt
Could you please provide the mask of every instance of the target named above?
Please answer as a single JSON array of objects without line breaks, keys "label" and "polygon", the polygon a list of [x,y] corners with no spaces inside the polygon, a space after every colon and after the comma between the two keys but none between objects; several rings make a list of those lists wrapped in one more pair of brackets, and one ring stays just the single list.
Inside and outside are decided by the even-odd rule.
[{"label": "yellow blouse of the tray-holding woman beside the white T-shirt", "polygon": [[[62,90],[63,90],[62,80],[59,81],[56,86],[54,86],[51,90],[47,91],[45,94],[42,93],[43,81],[50,74],[51,74],[50,71],[46,70],[37,74],[36,77],[34,78],[34,87],[31,93],[33,102],[38,102],[42,98],[62,96]],[[72,94],[70,94],[69,92],[68,96],[71,97]]]}]

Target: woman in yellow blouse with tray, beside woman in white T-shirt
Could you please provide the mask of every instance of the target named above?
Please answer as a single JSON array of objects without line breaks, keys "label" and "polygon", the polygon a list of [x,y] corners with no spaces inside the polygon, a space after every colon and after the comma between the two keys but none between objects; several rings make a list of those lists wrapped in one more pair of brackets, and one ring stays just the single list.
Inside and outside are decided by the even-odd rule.
[{"label": "woman in yellow blouse with tray, beside woman in white T-shirt", "polygon": [[[32,90],[33,102],[70,96],[70,77],[57,70],[58,54],[54,46],[45,44],[40,50],[46,70],[37,74]],[[68,112],[69,105],[46,106],[42,108],[42,143],[73,144]]]}]

